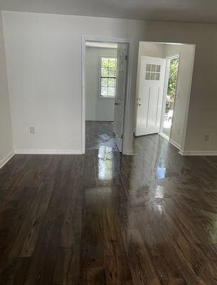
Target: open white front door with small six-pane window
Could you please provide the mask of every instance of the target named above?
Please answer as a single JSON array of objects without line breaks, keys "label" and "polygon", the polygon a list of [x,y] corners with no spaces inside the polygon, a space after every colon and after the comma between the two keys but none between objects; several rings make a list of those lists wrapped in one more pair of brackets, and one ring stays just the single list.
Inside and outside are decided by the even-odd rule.
[{"label": "open white front door with small six-pane window", "polygon": [[164,93],[165,58],[141,57],[135,135],[159,133]]}]

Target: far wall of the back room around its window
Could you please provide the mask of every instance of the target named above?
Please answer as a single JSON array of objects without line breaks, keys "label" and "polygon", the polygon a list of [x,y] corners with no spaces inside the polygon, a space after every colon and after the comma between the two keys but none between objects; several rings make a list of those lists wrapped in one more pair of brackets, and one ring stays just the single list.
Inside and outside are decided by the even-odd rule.
[{"label": "far wall of the back room around its window", "polygon": [[114,98],[100,98],[100,57],[117,57],[115,48],[86,48],[86,120],[113,121]]}]

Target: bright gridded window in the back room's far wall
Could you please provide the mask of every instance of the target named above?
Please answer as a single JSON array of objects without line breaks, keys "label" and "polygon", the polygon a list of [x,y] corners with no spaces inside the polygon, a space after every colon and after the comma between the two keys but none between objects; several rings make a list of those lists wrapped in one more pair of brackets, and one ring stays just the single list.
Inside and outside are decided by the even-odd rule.
[{"label": "bright gridded window in the back room's far wall", "polygon": [[100,58],[100,97],[115,97],[117,58]]}]

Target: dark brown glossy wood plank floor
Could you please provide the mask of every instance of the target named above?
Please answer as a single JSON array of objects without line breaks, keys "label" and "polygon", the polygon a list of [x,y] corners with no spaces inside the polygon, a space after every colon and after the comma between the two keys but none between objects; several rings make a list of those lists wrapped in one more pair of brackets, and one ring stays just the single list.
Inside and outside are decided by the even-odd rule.
[{"label": "dark brown glossy wood plank floor", "polygon": [[87,122],[85,155],[0,170],[0,284],[217,284],[217,157],[159,135],[120,155],[103,124]]}]

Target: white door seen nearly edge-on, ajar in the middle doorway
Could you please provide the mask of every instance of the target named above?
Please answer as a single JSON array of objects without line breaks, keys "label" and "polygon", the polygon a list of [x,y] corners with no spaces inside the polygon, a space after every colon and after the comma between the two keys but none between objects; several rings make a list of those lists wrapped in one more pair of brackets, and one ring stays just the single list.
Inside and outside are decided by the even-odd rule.
[{"label": "white door seen nearly edge-on, ajar in the middle doorway", "polygon": [[127,79],[127,44],[117,45],[117,76],[115,94],[115,116],[113,132],[115,133],[115,143],[122,152],[122,137],[124,125],[125,92]]}]

